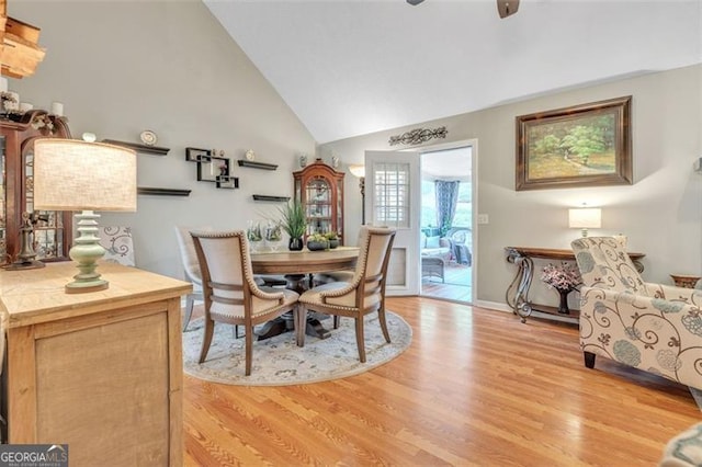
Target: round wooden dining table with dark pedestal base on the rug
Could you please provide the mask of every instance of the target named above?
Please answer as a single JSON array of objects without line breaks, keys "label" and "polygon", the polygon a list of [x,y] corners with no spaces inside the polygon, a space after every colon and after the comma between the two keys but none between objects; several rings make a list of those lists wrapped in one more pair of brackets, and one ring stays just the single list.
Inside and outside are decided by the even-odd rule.
[{"label": "round wooden dining table with dark pedestal base on the rug", "polygon": [[[326,272],[353,270],[359,258],[358,247],[337,247],[335,249],[310,251],[254,251],[251,252],[253,274],[283,275],[286,288],[298,294],[314,286],[314,275]],[[269,321],[257,332],[258,340],[269,339],[291,329],[291,319]],[[305,332],[319,339],[330,335],[314,314],[307,316]]]}]

